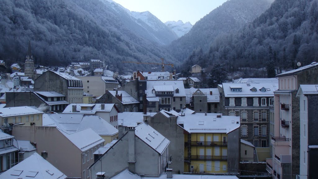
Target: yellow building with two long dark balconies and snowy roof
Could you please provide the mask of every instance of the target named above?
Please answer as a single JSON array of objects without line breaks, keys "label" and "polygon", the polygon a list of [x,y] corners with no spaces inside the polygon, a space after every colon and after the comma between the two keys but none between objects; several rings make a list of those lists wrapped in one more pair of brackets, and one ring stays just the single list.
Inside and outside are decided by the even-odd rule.
[{"label": "yellow building with two long dark balconies and snowy roof", "polygon": [[240,118],[216,114],[178,116],[184,131],[184,172],[237,173]]}]

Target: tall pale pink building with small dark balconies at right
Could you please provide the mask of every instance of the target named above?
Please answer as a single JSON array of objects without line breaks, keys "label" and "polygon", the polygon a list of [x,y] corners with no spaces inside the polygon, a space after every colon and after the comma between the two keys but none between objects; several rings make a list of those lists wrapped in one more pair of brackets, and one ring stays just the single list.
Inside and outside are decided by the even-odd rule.
[{"label": "tall pale pink building with small dark balconies at right", "polygon": [[318,84],[318,63],[278,74],[276,78],[279,90],[274,92],[274,128],[270,131],[273,150],[272,158],[266,160],[274,179],[300,174],[300,165],[304,163],[300,158],[300,132],[304,130],[300,126],[300,112],[306,101],[300,102],[296,93],[300,85]]}]

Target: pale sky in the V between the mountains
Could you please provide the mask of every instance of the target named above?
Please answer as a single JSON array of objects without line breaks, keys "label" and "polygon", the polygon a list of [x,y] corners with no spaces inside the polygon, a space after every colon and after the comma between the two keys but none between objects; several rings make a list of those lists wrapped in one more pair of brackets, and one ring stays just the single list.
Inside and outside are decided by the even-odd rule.
[{"label": "pale sky in the V between the mountains", "polygon": [[163,23],[182,20],[194,25],[227,0],[113,0],[130,11],[149,11]]}]

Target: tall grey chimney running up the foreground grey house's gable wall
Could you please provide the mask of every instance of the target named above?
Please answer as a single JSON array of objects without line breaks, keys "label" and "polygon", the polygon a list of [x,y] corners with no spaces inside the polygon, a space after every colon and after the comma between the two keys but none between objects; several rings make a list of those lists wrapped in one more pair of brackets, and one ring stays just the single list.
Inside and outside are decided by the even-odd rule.
[{"label": "tall grey chimney running up the foreground grey house's gable wall", "polygon": [[135,173],[135,127],[128,128],[128,169],[130,172]]}]

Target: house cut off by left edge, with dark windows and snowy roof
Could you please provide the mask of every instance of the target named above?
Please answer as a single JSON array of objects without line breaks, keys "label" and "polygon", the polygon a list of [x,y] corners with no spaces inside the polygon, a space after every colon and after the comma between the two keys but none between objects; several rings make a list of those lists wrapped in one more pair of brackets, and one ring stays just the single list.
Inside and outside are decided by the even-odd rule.
[{"label": "house cut off by left edge, with dark windows and snowy roof", "polygon": [[[19,163],[19,149],[13,145],[14,136],[0,132],[0,172]],[[3,178],[3,175],[0,175]]]}]

